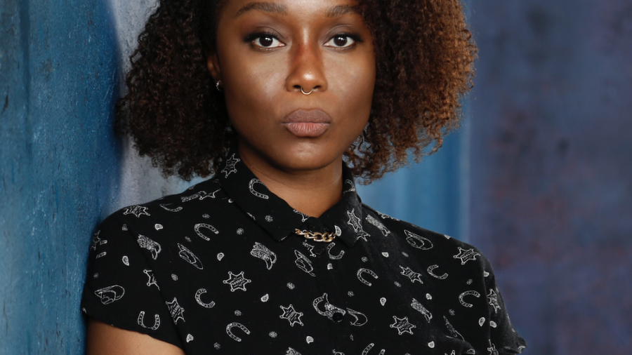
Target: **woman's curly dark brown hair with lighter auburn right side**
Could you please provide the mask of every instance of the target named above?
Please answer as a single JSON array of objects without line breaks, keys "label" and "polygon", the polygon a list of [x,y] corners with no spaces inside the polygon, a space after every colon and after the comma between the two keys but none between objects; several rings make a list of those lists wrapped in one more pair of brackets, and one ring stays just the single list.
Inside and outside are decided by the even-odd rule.
[{"label": "woman's curly dark brown hair with lighter auburn right side", "polygon": [[[235,140],[204,53],[225,1],[160,0],[131,55],[117,127],[164,175],[211,175]],[[360,0],[357,8],[379,51],[369,123],[345,161],[367,183],[436,152],[459,126],[477,48],[459,0]]]}]

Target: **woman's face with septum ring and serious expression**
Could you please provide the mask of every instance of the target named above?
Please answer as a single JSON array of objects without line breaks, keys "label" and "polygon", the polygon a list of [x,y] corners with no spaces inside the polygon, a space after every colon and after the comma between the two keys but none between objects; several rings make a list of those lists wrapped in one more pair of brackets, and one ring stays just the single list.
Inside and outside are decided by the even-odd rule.
[{"label": "woman's face with septum ring and serious expression", "polygon": [[367,124],[375,84],[371,33],[356,2],[254,1],[225,4],[209,57],[240,153],[287,172],[339,164]]}]

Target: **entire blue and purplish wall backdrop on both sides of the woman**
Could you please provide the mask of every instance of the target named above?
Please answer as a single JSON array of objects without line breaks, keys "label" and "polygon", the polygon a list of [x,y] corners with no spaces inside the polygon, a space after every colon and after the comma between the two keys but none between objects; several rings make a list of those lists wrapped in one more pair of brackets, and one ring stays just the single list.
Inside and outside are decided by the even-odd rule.
[{"label": "entire blue and purplish wall backdrop on both sides of the woman", "polygon": [[[112,134],[151,5],[0,2],[0,354],[82,354],[93,229],[187,186]],[[473,0],[468,13],[480,60],[463,128],[360,196],[481,248],[524,354],[629,354],[632,3]]]}]

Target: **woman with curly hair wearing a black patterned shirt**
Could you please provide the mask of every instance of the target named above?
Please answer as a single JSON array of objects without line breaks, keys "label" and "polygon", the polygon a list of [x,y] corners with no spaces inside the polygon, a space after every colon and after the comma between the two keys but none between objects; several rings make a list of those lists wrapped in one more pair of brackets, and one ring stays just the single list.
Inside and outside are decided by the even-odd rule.
[{"label": "woman with curly hair wearing a black patterned shirt", "polygon": [[121,123],[216,175],[102,223],[88,354],[520,352],[477,249],[355,193],[440,147],[474,55],[458,1],[162,1]]}]

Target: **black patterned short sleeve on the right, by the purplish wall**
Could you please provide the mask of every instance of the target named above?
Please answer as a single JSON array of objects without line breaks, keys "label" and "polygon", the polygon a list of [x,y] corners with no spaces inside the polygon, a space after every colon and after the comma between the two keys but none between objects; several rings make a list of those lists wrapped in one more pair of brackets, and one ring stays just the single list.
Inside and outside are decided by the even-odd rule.
[{"label": "black patterned short sleeve on the right, by the purplish wall", "polygon": [[487,291],[487,307],[489,308],[489,353],[499,355],[520,354],[527,347],[518,335],[503,302],[503,297],[496,286],[496,278],[487,258],[483,258],[485,288]]}]

